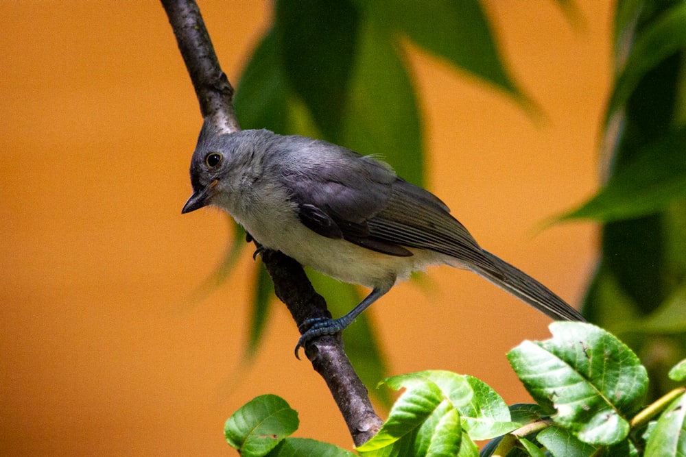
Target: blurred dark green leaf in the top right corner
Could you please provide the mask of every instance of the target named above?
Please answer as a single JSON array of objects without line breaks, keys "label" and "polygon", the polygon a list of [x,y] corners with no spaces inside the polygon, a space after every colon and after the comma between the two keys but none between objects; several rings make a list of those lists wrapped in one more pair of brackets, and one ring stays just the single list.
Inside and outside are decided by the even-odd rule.
[{"label": "blurred dark green leaf in the top right corner", "polygon": [[612,116],[626,106],[641,78],[685,46],[686,5],[676,2],[635,37],[626,65],[615,82],[608,104],[606,125]]}]

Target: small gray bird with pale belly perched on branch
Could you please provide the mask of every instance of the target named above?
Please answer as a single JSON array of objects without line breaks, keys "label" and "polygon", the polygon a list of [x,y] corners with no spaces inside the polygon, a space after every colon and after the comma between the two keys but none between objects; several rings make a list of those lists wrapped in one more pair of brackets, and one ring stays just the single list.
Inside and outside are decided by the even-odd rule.
[{"label": "small gray bird with pale belly perched on branch", "polygon": [[191,158],[193,195],[182,213],[211,205],[264,248],[372,291],[338,319],[311,319],[298,349],[346,328],[410,273],[469,269],[552,319],[585,321],[526,273],[480,247],[435,195],[383,162],[322,140],[268,130],[218,132],[209,122]]}]

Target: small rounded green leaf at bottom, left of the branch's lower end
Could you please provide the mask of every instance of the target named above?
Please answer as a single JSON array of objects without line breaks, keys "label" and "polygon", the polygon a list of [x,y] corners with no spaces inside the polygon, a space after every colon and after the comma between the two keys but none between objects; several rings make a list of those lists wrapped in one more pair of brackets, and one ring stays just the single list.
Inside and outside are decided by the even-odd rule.
[{"label": "small rounded green leaf at bottom, left of the branch's lower end", "polygon": [[265,456],[298,429],[298,412],[276,395],[260,395],[241,406],[224,425],[228,444],[244,457]]}]

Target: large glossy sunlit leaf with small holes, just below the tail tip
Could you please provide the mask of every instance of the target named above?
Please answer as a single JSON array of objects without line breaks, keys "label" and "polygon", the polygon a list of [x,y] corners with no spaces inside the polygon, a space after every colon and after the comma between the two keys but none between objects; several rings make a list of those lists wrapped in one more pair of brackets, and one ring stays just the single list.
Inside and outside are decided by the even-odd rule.
[{"label": "large glossy sunlit leaf with small holes, just below the tail tip", "polygon": [[508,353],[529,393],[581,441],[624,439],[648,388],[646,369],[615,336],[591,324],[554,322],[553,338],[524,341]]}]

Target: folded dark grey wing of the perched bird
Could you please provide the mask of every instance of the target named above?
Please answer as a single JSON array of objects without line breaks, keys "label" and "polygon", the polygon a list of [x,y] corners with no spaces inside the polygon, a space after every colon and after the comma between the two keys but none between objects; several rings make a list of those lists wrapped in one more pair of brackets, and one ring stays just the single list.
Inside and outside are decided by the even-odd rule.
[{"label": "folded dark grey wing of the perched bird", "polygon": [[497,270],[438,197],[382,162],[324,145],[331,153],[316,161],[303,151],[309,145],[300,145],[298,162],[284,173],[304,225],[392,256],[412,255],[405,247],[429,249]]}]

